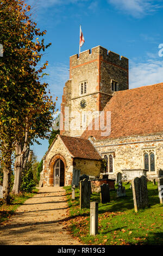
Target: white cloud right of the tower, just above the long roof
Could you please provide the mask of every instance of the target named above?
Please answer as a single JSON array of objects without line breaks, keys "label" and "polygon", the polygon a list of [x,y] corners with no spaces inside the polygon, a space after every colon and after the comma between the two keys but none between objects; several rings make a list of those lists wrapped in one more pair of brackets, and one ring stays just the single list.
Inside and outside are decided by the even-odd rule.
[{"label": "white cloud right of the tower, just above the long roof", "polygon": [[129,89],[162,82],[163,57],[160,57],[160,60],[152,58],[141,63],[130,61]]}]

